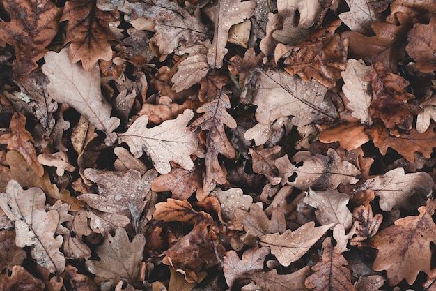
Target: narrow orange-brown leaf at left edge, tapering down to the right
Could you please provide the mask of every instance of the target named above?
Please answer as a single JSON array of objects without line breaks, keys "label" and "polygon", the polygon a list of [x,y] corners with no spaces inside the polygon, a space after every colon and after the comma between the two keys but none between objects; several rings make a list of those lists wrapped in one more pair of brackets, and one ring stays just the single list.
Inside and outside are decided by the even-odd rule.
[{"label": "narrow orange-brown leaf at left edge, tapering down to the right", "polygon": [[10,119],[10,133],[0,136],[0,144],[8,144],[8,149],[19,152],[26,163],[38,177],[44,175],[44,168],[36,157],[36,149],[32,135],[26,130],[26,117],[20,112],[15,112]]}]

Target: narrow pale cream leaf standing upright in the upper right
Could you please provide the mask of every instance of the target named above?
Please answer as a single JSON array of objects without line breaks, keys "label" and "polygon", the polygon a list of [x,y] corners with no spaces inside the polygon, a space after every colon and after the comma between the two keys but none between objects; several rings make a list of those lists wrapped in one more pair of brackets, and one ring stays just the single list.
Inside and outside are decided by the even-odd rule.
[{"label": "narrow pale cream leaf standing upright in the upper right", "polygon": [[347,107],[352,110],[352,117],[360,119],[362,124],[368,124],[368,126],[373,123],[369,112],[373,94],[370,82],[366,81],[371,70],[371,66],[366,66],[361,59],[348,59],[345,70],[341,72],[345,83],[342,91],[349,101]]}]

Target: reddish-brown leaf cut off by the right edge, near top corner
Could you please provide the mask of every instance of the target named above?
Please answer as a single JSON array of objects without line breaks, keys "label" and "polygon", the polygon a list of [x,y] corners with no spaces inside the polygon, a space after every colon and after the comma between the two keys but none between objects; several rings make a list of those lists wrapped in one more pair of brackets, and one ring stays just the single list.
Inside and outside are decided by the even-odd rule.
[{"label": "reddish-brown leaf cut off by the right edge, near top corner", "polygon": [[421,72],[433,72],[436,70],[435,38],[436,16],[431,17],[428,24],[415,23],[407,34],[406,52],[416,61],[416,69]]}]

